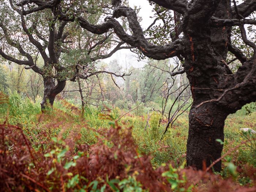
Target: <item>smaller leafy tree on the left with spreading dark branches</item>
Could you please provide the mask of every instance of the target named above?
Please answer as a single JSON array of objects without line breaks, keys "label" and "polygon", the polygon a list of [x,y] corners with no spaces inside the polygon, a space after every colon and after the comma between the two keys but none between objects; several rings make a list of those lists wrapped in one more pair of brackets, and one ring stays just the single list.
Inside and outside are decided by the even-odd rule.
[{"label": "smaller leafy tree on the left with spreading dark branches", "polygon": [[[106,9],[104,2],[81,3],[87,4],[86,14],[90,23],[98,23]],[[121,47],[124,42],[118,42],[109,52],[113,46],[112,32],[94,35],[82,29],[78,22],[58,20],[50,10],[28,16],[24,16],[22,11],[12,0],[1,4],[0,55],[5,60],[27,65],[25,69],[32,69],[43,77],[42,109],[47,100],[53,105],[56,95],[63,91],[66,80],[86,79],[105,72],[95,71],[95,61],[128,48]],[[38,64],[39,56],[44,60],[43,65]]]}]

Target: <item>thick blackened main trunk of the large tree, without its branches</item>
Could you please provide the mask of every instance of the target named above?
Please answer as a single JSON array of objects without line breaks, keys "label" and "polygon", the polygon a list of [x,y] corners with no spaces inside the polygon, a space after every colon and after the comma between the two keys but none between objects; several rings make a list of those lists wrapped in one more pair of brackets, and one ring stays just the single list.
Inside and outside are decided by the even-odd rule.
[{"label": "thick blackened main trunk of the large tree, without its branches", "polygon": [[[221,1],[214,6],[217,11],[212,12],[213,15],[222,18],[230,14],[230,2]],[[215,10],[211,7],[205,9]],[[231,110],[209,101],[218,99],[223,94],[222,90],[228,89],[232,72],[225,65],[230,27],[214,28],[207,25],[210,17],[197,16],[185,16],[183,25],[186,37],[184,68],[193,96],[189,113],[187,165],[203,169],[221,157],[223,146],[216,139],[224,140],[223,128]],[[221,161],[215,164],[214,170],[221,170]]]}]

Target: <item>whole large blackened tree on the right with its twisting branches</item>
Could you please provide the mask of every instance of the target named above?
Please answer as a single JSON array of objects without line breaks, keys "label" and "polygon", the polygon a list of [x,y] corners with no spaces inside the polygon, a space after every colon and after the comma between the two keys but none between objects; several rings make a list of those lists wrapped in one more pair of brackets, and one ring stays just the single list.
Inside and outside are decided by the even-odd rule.
[{"label": "whole large blackened tree on the right with its twisting branches", "polygon": [[[235,0],[150,0],[157,7],[159,5],[175,11],[174,16],[179,14],[180,21],[176,21],[174,26],[172,42],[165,45],[147,41],[136,12],[123,6],[121,0],[112,0],[113,15],[101,25],[92,25],[82,13],[79,14],[79,9],[60,0],[22,2],[25,15],[52,8],[58,19],[78,20],[80,26],[91,33],[103,34],[113,29],[122,41],[138,48],[144,56],[157,60],[184,57],[184,70],[181,72],[186,72],[193,96],[189,114],[188,166],[202,169],[203,164],[208,166],[221,157],[223,146],[216,139],[224,139],[226,117],[256,100],[255,38],[252,41],[247,38],[244,26],[256,23],[248,18],[256,10],[256,0],[244,0],[239,5]],[[37,7],[29,9],[27,5],[24,6],[26,3],[33,3]],[[116,20],[120,17],[127,18],[131,33],[126,33]],[[240,39],[249,52],[252,51],[249,57],[232,44],[233,26],[239,27]],[[227,65],[228,52],[241,62],[235,73]],[[216,163],[214,168],[219,171],[221,162]]]}]

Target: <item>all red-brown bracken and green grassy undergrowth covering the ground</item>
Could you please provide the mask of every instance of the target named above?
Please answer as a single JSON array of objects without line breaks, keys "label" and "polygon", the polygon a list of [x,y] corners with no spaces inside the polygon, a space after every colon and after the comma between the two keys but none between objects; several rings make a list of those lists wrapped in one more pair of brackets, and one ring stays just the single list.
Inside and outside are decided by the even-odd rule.
[{"label": "all red-brown bracken and green grassy undergrowth covering the ground", "polygon": [[122,113],[86,108],[82,117],[59,100],[42,114],[39,101],[1,94],[1,190],[255,191],[255,136],[240,131],[255,127],[255,112],[227,118],[221,173],[184,168],[187,114],[162,138],[158,115],[146,127],[146,115],[117,121]]}]

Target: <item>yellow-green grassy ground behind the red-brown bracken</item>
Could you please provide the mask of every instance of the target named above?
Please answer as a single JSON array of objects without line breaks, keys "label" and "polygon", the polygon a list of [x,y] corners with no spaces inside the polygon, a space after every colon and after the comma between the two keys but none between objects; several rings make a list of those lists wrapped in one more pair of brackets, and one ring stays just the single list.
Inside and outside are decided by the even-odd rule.
[{"label": "yellow-green grassy ground behind the red-brown bracken", "polygon": [[[67,101],[56,101],[54,109],[48,109],[41,114],[39,101],[22,99],[18,94],[12,94],[4,103],[0,104],[0,123],[6,118],[8,123],[19,125],[30,139],[36,150],[46,149],[49,140],[58,137],[63,140],[72,138],[77,144],[93,145],[101,138],[101,131],[109,129],[111,121],[108,116],[102,115],[99,110],[86,108],[84,116],[80,116],[80,110]],[[240,128],[256,128],[256,112],[246,115],[245,108],[236,114],[231,114],[225,122],[225,142],[223,154],[231,148],[238,146],[249,136],[244,135]],[[110,112],[113,119],[118,119],[125,112],[116,108]],[[138,145],[140,154],[152,157],[152,165],[157,168],[162,163],[172,162],[174,166],[181,166],[185,161],[186,141],[188,137],[188,112],[180,116],[173,127],[163,136],[165,124],[158,127],[159,116],[153,114],[147,124],[147,114],[140,116],[129,113],[119,121],[127,127],[132,127],[132,136]],[[234,176],[240,185],[250,185],[252,181],[246,175],[247,169],[256,167],[255,141],[242,145],[232,151],[223,159],[223,170],[220,173],[223,178]],[[231,163],[231,164],[230,164]],[[230,169],[231,165],[236,166]]]}]

